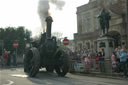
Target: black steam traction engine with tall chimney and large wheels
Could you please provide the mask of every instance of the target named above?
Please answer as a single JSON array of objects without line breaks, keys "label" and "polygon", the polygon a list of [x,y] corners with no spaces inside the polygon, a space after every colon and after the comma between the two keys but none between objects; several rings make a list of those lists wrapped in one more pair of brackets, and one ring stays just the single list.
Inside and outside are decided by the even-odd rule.
[{"label": "black steam traction engine with tall chimney and large wheels", "polygon": [[48,16],[46,22],[46,32],[41,35],[39,43],[33,42],[24,58],[24,71],[30,77],[35,77],[42,67],[48,72],[55,70],[59,76],[65,76],[69,69],[68,55],[57,46],[56,37],[51,37],[52,17]]}]

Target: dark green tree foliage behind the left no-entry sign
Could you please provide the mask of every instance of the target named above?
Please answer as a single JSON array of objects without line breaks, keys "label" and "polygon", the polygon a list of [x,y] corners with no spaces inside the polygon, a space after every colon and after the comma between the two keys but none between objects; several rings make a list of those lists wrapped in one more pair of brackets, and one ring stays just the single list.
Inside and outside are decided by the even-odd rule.
[{"label": "dark green tree foliage behind the left no-entry sign", "polygon": [[4,48],[10,51],[16,50],[13,47],[13,43],[17,41],[19,43],[18,53],[22,54],[25,49],[25,43],[31,41],[31,31],[23,26],[0,28],[0,40],[4,41]]}]

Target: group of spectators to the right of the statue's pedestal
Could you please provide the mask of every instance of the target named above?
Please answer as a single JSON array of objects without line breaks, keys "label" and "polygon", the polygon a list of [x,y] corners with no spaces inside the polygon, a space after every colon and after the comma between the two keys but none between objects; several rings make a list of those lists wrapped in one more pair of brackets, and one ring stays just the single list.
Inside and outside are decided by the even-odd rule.
[{"label": "group of spectators to the right of the statue's pedestal", "polygon": [[118,46],[111,56],[113,72],[123,72],[127,77],[128,72],[128,49]]}]

